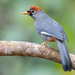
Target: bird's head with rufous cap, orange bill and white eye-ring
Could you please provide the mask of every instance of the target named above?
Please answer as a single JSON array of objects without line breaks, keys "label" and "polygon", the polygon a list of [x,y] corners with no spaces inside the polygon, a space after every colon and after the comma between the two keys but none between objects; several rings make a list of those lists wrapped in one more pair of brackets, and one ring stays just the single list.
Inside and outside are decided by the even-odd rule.
[{"label": "bird's head with rufous cap, orange bill and white eye-ring", "polygon": [[32,6],[27,12],[23,12],[22,14],[27,14],[33,17],[34,19],[39,18],[39,16],[42,16],[41,13],[44,13],[44,11],[37,7],[37,6]]}]

